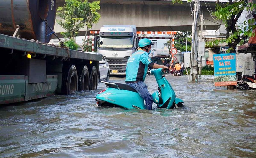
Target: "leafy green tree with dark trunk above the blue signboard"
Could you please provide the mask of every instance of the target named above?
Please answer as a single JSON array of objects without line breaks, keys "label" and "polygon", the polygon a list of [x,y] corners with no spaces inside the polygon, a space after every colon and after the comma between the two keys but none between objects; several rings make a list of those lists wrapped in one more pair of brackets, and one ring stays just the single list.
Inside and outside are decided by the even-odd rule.
[{"label": "leafy green tree with dark trunk above the blue signboard", "polygon": [[229,0],[229,3],[221,5],[216,3],[216,11],[212,12],[212,15],[224,22],[226,39],[216,40],[212,43],[226,42],[229,47],[228,52],[234,52],[239,43],[242,44],[248,38],[254,36],[252,32],[255,28],[255,25],[253,25],[254,19],[245,20],[243,23],[238,24],[238,28],[236,28],[236,23],[244,10],[252,11],[255,9],[256,4],[250,3],[248,0]]}]

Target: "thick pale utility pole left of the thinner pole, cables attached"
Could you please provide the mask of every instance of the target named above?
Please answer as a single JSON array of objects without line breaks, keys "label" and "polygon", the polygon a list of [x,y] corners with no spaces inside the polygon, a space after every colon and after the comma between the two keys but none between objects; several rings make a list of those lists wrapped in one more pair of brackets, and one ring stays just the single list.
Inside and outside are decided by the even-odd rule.
[{"label": "thick pale utility pole left of the thinner pole, cables attached", "polygon": [[190,74],[189,80],[192,82],[198,82],[198,31],[197,20],[199,14],[199,0],[195,1],[194,4],[194,20],[192,24],[192,44],[191,44],[191,54],[190,54]]}]

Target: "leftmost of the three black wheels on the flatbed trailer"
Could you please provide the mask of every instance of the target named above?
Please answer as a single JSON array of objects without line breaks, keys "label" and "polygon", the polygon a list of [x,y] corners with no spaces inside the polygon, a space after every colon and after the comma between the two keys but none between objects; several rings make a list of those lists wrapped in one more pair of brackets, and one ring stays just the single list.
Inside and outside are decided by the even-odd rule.
[{"label": "leftmost of the three black wheels on the flatbed trailer", "polygon": [[70,66],[68,69],[68,75],[66,77],[67,82],[64,93],[66,95],[70,95],[71,93],[76,92],[78,89],[78,76],[75,65]]}]

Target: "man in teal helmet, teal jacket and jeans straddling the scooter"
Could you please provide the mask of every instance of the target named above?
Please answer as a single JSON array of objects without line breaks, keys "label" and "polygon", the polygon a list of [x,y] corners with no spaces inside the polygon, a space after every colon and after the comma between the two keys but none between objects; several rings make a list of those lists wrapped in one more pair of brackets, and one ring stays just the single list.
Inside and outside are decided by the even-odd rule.
[{"label": "man in teal helmet, teal jacket and jeans straddling the scooter", "polygon": [[152,110],[153,97],[148,91],[148,86],[144,83],[148,67],[169,69],[164,65],[158,65],[149,58],[152,42],[150,39],[141,39],[139,41],[139,49],[133,53],[127,61],[126,66],[126,84],[135,89],[138,94],[145,100],[145,108]]}]

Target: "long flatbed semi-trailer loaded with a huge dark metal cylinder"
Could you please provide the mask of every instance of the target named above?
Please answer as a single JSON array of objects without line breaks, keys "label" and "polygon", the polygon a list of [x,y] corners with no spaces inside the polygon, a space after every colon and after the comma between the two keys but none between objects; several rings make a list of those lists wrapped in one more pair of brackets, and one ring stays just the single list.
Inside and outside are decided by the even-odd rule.
[{"label": "long flatbed semi-trailer loaded with a huge dark metal cylinder", "polygon": [[97,89],[100,55],[47,44],[55,0],[0,5],[0,104]]}]

